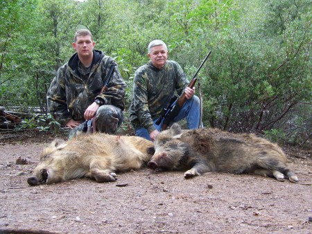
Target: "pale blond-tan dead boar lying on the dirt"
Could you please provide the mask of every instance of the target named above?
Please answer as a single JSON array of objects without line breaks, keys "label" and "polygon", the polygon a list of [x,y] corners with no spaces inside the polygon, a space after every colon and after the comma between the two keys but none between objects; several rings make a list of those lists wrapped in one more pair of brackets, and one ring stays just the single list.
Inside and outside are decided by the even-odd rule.
[{"label": "pale blond-tan dead boar lying on the dirt", "polygon": [[41,153],[29,185],[92,178],[99,183],[116,181],[115,172],[139,169],[153,156],[153,142],[135,136],[105,133],[53,140]]}]

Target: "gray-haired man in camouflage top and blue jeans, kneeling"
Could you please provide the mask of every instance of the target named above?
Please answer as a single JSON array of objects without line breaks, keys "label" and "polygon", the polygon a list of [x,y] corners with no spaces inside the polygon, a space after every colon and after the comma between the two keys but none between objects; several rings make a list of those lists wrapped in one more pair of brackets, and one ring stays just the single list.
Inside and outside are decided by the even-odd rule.
[{"label": "gray-haired man in camouflage top and blue jeans, kneeling", "polygon": [[179,95],[184,92],[187,101],[173,122],[186,118],[189,129],[198,128],[200,100],[194,95],[195,87],[187,87],[189,81],[180,65],[173,60],[167,60],[166,44],[162,40],[150,42],[148,58],[150,61],[137,69],[133,81],[130,122],[135,134],[155,140],[164,120],[159,125],[156,122],[175,92]]}]

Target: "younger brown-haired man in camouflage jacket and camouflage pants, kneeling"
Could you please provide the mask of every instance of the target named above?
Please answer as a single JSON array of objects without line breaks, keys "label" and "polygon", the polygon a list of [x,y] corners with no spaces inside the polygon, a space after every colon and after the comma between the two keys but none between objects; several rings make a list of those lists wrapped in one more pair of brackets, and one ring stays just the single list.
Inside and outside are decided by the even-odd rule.
[{"label": "younger brown-haired man in camouflage jacket and camouflage pants, kneeling", "polygon": [[96,119],[96,131],[104,133],[114,133],[123,122],[125,81],[113,58],[94,49],[94,44],[89,30],[75,33],[76,53],[58,69],[46,95],[51,115],[71,128],[69,138],[83,131],[85,120]]}]

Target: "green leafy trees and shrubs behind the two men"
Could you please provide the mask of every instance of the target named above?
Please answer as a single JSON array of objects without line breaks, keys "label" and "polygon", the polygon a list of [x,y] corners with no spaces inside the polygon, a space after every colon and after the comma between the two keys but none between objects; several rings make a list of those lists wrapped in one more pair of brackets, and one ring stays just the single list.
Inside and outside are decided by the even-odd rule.
[{"label": "green leafy trees and shrubs behind the two men", "polygon": [[127,109],[135,70],[160,39],[189,79],[212,51],[196,87],[204,126],[311,141],[311,0],[2,0],[0,21],[0,106],[33,113],[18,128],[55,129],[46,91],[88,28],[118,62]]}]

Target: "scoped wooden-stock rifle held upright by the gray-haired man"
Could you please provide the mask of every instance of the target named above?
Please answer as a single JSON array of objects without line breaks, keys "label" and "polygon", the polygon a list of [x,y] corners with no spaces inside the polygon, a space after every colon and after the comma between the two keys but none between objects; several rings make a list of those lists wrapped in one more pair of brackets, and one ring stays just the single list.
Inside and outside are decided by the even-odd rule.
[{"label": "scoped wooden-stock rifle held upright by the gray-haired man", "polygon": [[[202,64],[200,67],[198,67],[196,74],[191,79],[191,82],[187,87],[193,88],[196,81],[197,81],[197,74],[202,68],[202,65],[206,62],[207,58],[210,56],[211,51],[207,54],[205,59],[202,61]],[[185,101],[187,101],[187,97],[185,97],[185,93],[183,92],[180,97],[173,96],[171,98],[170,103],[166,108],[164,108],[164,111],[162,112],[162,115],[160,115],[159,119],[157,120],[156,124],[159,125],[162,122],[162,119],[164,119],[164,122],[162,124],[162,130],[165,130],[167,126],[173,121],[173,119],[179,114],[180,110],[182,109],[182,106],[184,105]]]}]

